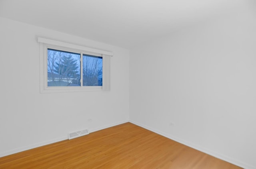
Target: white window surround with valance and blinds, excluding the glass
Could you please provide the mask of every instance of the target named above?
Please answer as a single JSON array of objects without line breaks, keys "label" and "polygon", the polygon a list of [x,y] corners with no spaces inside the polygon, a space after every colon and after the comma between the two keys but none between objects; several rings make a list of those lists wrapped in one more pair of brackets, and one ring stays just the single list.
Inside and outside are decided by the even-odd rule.
[{"label": "white window surround with valance and blinds, excluding the glass", "polygon": [[[71,43],[56,41],[38,37],[40,43],[40,92],[54,93],[54,92],[85,92],[85,91],[102,91],[110,90],[110,56],[114,54],[109,51],[102,51],[100,49],[93,49]],[[102,86],[50,86],[47,85],[47,49],[53,48],[62,51],[69,51],[74,53],[84,53],[88,55],[96,55],[102,57],[103,73]]]}]

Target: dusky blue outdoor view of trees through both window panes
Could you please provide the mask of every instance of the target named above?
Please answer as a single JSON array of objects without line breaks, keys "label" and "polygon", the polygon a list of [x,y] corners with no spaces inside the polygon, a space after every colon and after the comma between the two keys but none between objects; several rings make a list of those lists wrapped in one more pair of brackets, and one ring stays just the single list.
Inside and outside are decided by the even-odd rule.
[{"label": "dusky blue outdoor view of trees through both window panes", "polygon": [[80,57],[80,53],[55,49],[47,52],[48,86],[102,86],[102,57]]}]

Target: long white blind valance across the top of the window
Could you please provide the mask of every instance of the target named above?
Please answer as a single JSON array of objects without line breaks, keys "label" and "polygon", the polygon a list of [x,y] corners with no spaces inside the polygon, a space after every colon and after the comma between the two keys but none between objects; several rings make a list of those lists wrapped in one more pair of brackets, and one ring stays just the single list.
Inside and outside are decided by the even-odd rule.
[{"label": "long white blind valance across the top of the window", "polygon": [[104,55],[110,55],[110,56],[114,55],[112,52],[102,51],[100,49],[93,49],[93,48],[90,48],[90,47],[85,47],[85,46],[80,46],[80,45],[74,45],[74,44],[71,44],[71,43],[56,41],[56,40],[52,40],[52,39],[46,39],[46,38],[43,38],[43,37],[38,37],[38,42],[46,43],[46,44],[50,44],[50,45],[68,47],[68,48],[72,48],[72,49],[78,49],[78,50],[82,50],[82,51],[100,53],[100,54],[104,54]]}]

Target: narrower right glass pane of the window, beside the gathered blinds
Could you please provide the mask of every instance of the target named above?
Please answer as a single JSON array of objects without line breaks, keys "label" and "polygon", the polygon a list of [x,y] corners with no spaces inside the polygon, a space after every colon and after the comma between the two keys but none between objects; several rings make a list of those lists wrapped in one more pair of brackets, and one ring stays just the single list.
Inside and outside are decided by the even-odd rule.
[{"label": "narrower right glass pane of the window, beside the gathered blinds", "polygon": [[102,86],[102,57],[83,55],[83,86]]}]

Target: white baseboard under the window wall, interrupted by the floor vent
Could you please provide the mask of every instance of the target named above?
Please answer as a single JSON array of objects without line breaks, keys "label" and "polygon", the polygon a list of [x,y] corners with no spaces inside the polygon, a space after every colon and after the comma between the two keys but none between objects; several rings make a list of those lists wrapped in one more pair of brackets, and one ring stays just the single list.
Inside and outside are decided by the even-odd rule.
[{"label": "white baseboard under the window wall, interrupted by the floor vent", "polygon": [[[121,122],[117,122],[117,123],[113,123],[113,124],[108,124],[108,125],[100,126],[98,128],[89,129],[89,131],[90,131],[90,133],[92,133],[92,132],[96,132],[98,130],[109,128],[109,127],[116,126],[116,125],[119,125],[119,124],[123,124],[123,123],[126,123],[126,122],[129,122],[129,120],[125,120],[125,121],[121,121]],[[20,147],[20,148],[11,149],[11,150],[8,150],[8,151],[0,152],[0,157],[4,157],[6,155],[11,155],[11,154],[14,154],[14,153],[19,153],[21,151],[26,151],[28,149],[33,149],[33,148],[36,148],[36,147],[41,147],[43,145],[47,145],[47,144],[51,144],[51,143],[56,143],[58,141],[63,141],[63,140],[68,140],[68,133],[67,133],[66,136],[61,137],[61,138],[56,138],[56,139],[48,140],[48,141],[42,141],[40,143],[35,143],[35,144],[27,145],[27,146],[24,146],[24,147]]]}]

